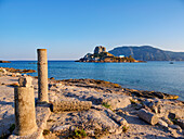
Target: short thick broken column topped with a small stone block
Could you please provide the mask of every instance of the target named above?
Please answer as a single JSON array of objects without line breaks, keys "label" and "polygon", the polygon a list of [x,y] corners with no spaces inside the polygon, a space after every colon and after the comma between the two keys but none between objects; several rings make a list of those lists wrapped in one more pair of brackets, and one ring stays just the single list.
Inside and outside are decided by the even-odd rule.
[{"label": "short thick broken column topped with a small stone block", "polygon": [[31,77],[21,77],[19,87],[14,88],[15,131],[17,136],[31,135],[37,130],[35,93]]}]

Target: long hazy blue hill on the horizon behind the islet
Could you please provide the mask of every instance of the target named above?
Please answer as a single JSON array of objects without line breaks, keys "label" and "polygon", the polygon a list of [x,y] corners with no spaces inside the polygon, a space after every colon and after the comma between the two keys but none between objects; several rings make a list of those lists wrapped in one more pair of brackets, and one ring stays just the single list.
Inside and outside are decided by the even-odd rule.
[{"label": "long hazy blue hill on the horizon behind the islet", "polygon": [[140,61],[184,61],[184,52],[165,51],[150,46],[118,47],[108,52],[115,56],[132,55],[132,58]]}]

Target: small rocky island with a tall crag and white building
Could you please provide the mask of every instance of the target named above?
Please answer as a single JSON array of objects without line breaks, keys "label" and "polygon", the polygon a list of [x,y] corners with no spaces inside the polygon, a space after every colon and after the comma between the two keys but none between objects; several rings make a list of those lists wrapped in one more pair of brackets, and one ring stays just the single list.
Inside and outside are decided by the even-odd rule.
[{"label": "small rocky island with a tall crag and white building", "polygon": [[130,56],[124,56],[124,55],[119,55],[115,56],[114,54],[109,53],[106,51],[105,47],[97,46],[94,49],[94,53],[87,53],[83,58],[76,62],[96,62],[96,63],[104,63],[104,62],[109,62],[109,63],[135,63],[135,62],[144,62],[144,61],[139,61],[133,59],[131,55]]}]

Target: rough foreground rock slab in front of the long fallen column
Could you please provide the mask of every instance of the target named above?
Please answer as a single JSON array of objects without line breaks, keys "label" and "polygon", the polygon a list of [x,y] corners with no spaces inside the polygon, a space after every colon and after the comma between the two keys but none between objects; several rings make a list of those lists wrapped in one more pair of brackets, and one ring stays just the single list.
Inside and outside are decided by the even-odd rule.
[{"label": "rough foreground rock slab in front of the long fallen column", "polygon": [[[123,126],[128,126],[126,119],[104,106],[92,106],[88,111],[52,113],[48,119],[48,127],[53,132],[61,135],[71,128],[81,127],[87,132],[107,131],[121,134]],[[126,125],[124,125],[126,124]],[[64,137],[61,137],[64,138]]]}]

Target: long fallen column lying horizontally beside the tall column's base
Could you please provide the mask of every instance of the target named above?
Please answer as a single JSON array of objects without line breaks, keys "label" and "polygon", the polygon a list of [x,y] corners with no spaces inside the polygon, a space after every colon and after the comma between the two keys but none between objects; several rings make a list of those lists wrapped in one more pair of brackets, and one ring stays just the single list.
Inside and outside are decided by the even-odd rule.
[{"label": "long fallen column lying horizontally beside the tall column's base", "polygon": [[53,112],[83,111],[92,106],[91,101],[61,101],[53,104]]}]

